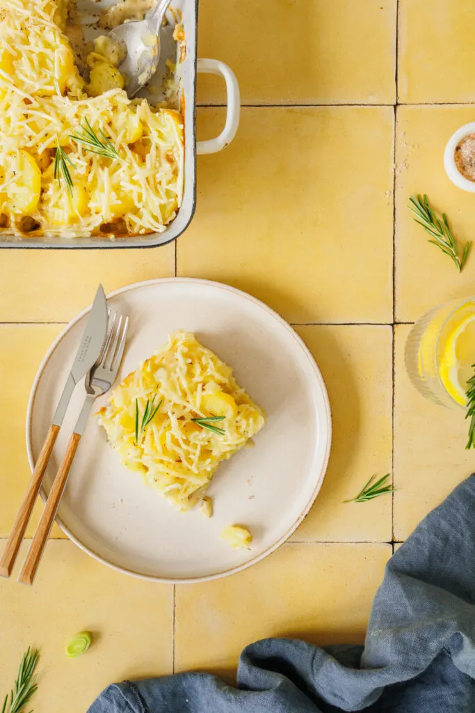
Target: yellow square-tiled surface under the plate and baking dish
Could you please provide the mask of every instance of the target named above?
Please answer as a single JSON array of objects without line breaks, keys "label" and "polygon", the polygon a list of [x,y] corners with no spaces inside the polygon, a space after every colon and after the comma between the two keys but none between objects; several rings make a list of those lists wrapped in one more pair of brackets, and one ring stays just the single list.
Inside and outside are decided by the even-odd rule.
[{"label": "yellow square-tiled surface under the plate and baking dish", "polygon": [[[244,106],[231,146],[199,157],[189,230],[153,250],[2,252],[0,538],[29,476],[31,381],[99,280],[110,290],[189,275],[263,299],[315,355],[334,440],[291,542],[225,580],[133,580],[53,530],[33,589],[0,581],[0,695],[29,644],[42,654],[35,713],[65,702],[82,713],[124,677],[206,668],[232,680],[241,647],[259,637],[363,640],[392,548],[474,464],[463,418],[419,396],[404,369],[411,323],[474,292],[475,256],[457,275],[406,207],[428,193],[457,237],[473,239],[475,198],[449,183],[442,154],[475,120],[474,19],[467,0],[201,0],[199,54],[229,62]],[[199,79],[200,138],[224,123],[223,96],[219,80]],[[343,503],[378,473],[393,474],[393,498]],[[94,648],[70,661],[63,646],[82,629]]]}]

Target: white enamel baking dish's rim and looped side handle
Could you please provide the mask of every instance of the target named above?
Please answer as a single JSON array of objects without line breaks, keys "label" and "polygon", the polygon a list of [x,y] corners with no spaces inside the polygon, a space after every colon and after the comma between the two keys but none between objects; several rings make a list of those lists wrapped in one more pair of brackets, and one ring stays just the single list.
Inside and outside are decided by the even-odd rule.
[{"label": "white enamel baking dish's rim and looped side handle", "polygon": [[[114,0],[103,0],[100,3],[91,0],[78,0],[78,10],[81,22],[85,28],[86,39],[92,39],[103,30],[94,26],[94,17],[100,9],[113,4]],[[95,13],[91,15],[91,9]],[[152,103],[158,103],[163,98],[161,86],[165,76],[167,58],[177,59],[177,43],[172,39],[174,25],[181,16],[186,41],[186,56],[182,63],[177,63],[177,82],[179,82],[181,106],[184,106],[184,193],[182,207],[177,217],[162,233],[137,237],[16,237],[0,235],[0,247],[28,248],[124,248],[124,247],[155,247],[165,245],[182,234],[189,225],[196,205],[196,156],[198,153],[216,153],[225,148],[233,140],[239,125],[240,97],[239,85],[231,69],[223,62],[215,59],[197,59],[197,26],[198,0],[174,0],[171,10],[167,12],[169,24],[162,29],[160,63],[155,78],[152,79],[149,91],[143,91],[139,96],[150,98]],[[227,94],[226,124],[219,136],[207,141],[196,140],[196,81],[197,72],[216,74],[224,78]]]}]

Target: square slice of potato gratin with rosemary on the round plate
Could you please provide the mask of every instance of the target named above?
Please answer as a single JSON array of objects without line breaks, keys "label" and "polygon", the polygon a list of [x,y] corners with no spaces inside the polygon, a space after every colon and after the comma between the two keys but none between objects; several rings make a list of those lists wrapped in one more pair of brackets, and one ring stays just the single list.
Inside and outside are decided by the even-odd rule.
[{"label": "square slice of potato gratin with rosemary on the round plate", "polygon": [[122,463],[181,511],[265,423],[231,367],[181,331],[113,389],[98,416]]}]

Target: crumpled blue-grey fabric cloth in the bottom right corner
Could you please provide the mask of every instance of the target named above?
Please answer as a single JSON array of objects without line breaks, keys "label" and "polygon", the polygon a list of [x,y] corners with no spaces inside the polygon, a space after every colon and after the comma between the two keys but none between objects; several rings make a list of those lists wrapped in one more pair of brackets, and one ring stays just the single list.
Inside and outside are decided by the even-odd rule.
[{"label": "crumpled blue-grey fabric cloth in the bottom right corner", "polygon": [[387,564],[365,646],[265,639],[237,688],[184,673],[113,684],[88,713],[475,712],[475,475]]}]

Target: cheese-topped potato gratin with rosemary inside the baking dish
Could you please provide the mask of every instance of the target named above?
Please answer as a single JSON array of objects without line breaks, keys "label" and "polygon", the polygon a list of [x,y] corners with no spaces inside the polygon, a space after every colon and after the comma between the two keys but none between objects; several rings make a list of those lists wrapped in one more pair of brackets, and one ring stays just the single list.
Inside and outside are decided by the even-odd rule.
[{"label": "cheese-topped potato gratin with rosemary inside the baking dish", "polygon": [[182,116],[130,101],[104,40],[86,83],[66,1],[0,0],[0,232],[163,232],[182,202]]}]

